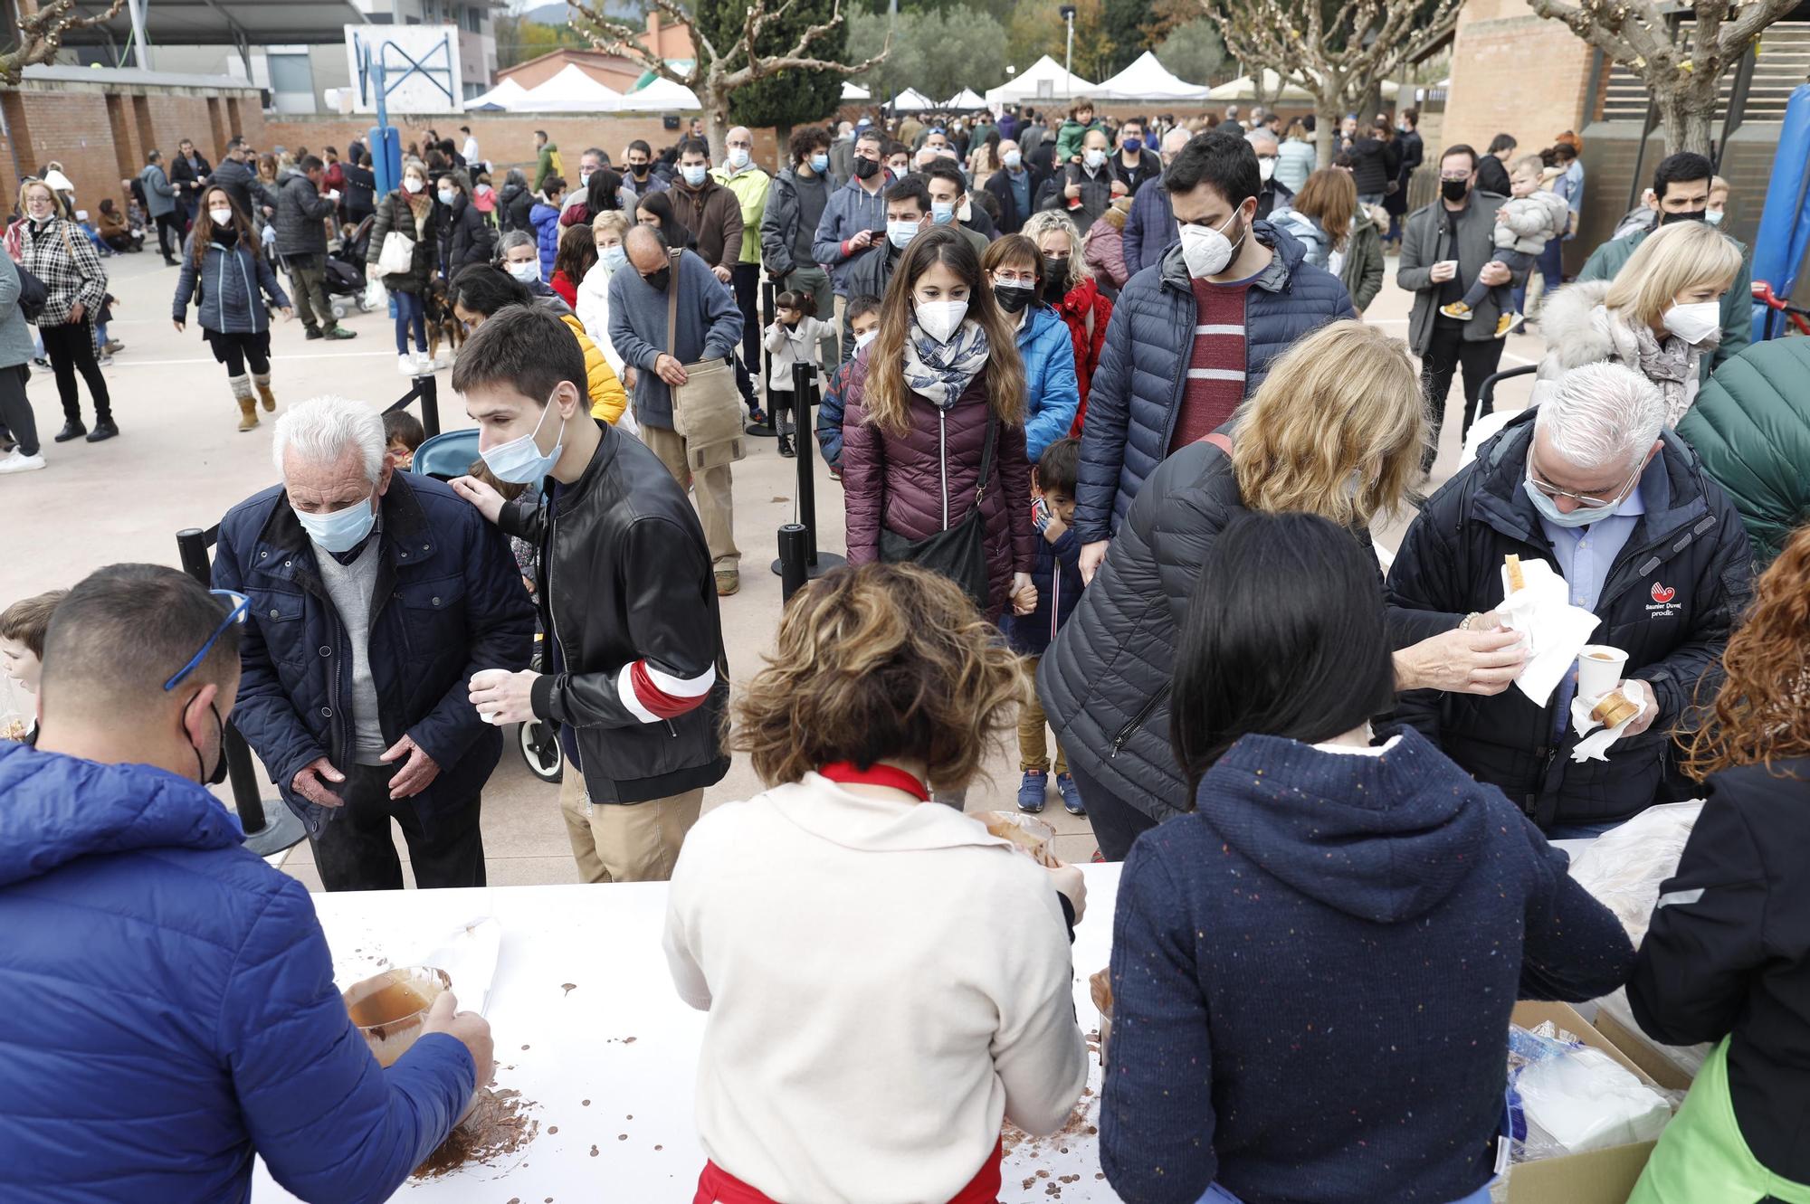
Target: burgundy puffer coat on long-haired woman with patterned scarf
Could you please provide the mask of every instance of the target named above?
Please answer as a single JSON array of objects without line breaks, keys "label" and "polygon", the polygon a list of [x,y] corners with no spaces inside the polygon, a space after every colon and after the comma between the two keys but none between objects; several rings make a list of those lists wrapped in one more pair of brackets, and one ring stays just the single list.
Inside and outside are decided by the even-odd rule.
[{"label": "burgundy puffer coat on long-haired woman with patterned scarf", "polygon": [[[862,349],[849,367],[849,405],[842,418],[849,564],[880,559],[881,526],[905,539],[929,539],[968,515],[981,475],[986,421],[992,418],[985,371],[947,412],[938,410],[929,398],[912,394],[910,430],[903,437],[867,421],[865,394],[867,349]],[[986,522],[990,578],[986,616],[997,620],[1010,604],[1012,573],[1030,573],[1037,564],[1024,427],[999,427],[994,436],[992,483],[981,499],[981,513]]]}]

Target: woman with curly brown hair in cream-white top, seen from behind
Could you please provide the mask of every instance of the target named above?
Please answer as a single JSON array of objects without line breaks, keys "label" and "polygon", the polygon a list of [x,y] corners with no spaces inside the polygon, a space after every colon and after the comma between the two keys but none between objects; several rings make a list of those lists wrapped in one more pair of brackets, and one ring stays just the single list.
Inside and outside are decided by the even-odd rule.
[{"label": "woman with curly brown hair in cream-white top, seen from behind", "polygon": [[691,828],[666,909],[673,983],[710,1012],[699,1200],[990,1204],[1001,1121],[1068,1119],[1081,871],[929,801],[1023,698],[1017,656],[938,573],[836,569],[787,604],[729,738],[769,788]]}]

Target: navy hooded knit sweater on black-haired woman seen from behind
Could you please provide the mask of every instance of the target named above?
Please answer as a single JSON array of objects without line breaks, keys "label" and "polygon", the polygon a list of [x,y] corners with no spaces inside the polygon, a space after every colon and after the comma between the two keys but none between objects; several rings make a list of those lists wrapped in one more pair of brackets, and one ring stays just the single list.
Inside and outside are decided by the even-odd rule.
[{"label": "navy hooded knit sweater on black-haired woman seen from behind", "polygon": [[1517,998],[1634,951],[1564,853],[1417,732],[1247,736],[1119,886],[1100,1164],[1126,1204],[1455,1200],[1491,1173]]}]

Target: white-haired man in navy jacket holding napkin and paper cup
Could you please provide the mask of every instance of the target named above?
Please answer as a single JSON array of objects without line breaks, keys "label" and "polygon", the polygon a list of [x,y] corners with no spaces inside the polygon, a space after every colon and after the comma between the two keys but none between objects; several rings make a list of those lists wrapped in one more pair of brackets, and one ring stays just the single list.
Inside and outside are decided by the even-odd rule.
[{"label": "white-haired man in navy jacket holding napkin and paper cup", "polygon": [[1620,691],[1640,716],[1605,761],[1577,759],[1573,669],[1540,701],[1519,689],[1405,694],[1399,718],[1555,839],[1689,797],[1672,736],[1700,721],[1692,700],[1716,691],[1729,629],[1752,595],[1752,548],[1721,486],[1665,430],[1665,401],[1640,372],[1571,369],[1555,396],[1484,443],[1421,508],[1388,589],[1453,627],[1490,627],[1510,555],[1548,562],[1569,602],[1596,615],[1591,642],[1627,653]]}]

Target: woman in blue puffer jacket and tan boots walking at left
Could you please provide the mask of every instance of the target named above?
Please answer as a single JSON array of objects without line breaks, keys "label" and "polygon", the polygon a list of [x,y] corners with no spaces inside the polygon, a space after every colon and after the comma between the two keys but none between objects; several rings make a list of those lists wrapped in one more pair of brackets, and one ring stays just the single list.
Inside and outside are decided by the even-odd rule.
[{"label": "woman in blue puffer jacket and tan boots walking at left", "polygon": [[[201,336],[214,358],[226,365],[226,383],[239,403],[239,430],[257,427],[257,385],[266,410],[277,409],[277,394],[270,390],[270,309],[264,298],[293,318],[295,309],[277,284],[270,260],[259,253],[252,219],[232,201],[224,188],[208,188],[195,212],[195,226],[183,244],[183,269],[176,277],[176,300],[170,320],[181,331],[188,322],[188,302],[199,309]],[[246,374],[246,365],[252,372]]]}]

